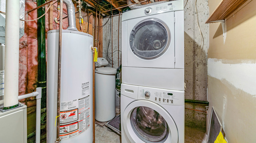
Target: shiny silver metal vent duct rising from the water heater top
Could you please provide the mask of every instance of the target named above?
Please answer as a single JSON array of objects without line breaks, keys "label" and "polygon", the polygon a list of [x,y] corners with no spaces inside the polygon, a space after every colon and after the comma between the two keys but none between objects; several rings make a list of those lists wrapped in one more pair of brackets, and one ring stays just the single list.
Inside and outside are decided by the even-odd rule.
[{"label": "shiny silver metal vent duct rising from the water heater top", "polygon": [[76,28],[76,25],[75,25],[75,7],[74,7],[72,0],[63,0],[63,3],[66,5],[67,11],[68,11],[69,26],[68,26],[67,30],[78,31]]}]

